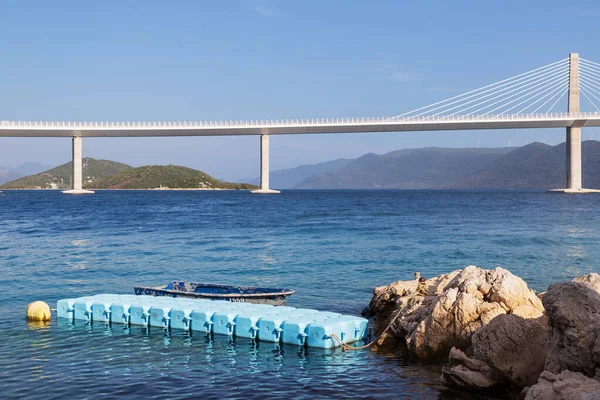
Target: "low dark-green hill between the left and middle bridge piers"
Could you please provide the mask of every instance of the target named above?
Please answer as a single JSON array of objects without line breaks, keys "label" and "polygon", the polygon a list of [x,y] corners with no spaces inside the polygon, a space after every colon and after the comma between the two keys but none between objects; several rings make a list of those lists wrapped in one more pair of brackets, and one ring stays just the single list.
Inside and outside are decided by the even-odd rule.
[{"label": "low dark-green hill between the left and middle bridge piers", "polygon": [[99,179],[93,189],[256,189],[247,183],[222,182],[192,168],[176,165],[147,165]]}]

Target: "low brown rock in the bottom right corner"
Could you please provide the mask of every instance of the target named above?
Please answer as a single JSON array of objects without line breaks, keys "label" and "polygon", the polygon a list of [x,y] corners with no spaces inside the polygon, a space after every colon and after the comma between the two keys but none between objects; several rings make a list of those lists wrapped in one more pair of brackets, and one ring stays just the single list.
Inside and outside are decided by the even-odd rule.
[{"label": "low brown rock in the bottom right corner", "polygon": [[542,372],[537,384],[527,390],[525,400],[600,400],[600,382],[579,372]]}]

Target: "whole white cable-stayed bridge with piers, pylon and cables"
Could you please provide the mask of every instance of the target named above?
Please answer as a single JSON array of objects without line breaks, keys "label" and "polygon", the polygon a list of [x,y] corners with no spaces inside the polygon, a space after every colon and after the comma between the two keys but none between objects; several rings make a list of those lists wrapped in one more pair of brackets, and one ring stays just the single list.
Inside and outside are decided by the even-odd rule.
[{"label": "whole white cable-stayed bridge with piers, pylon and cables", "polygon": [[[586,112],[582,112],[582,103]],[[553,62],[428,106],[377,118],[184,122],[0,121],[0,136],[72,137],[73,187],[82,190],[83,137],[260,135],[261,189],[269,187],[269,136],[351,132],[566,128],[568,193],[583,193],[581,128],[600,126],[600,64],[570,54]]]}]

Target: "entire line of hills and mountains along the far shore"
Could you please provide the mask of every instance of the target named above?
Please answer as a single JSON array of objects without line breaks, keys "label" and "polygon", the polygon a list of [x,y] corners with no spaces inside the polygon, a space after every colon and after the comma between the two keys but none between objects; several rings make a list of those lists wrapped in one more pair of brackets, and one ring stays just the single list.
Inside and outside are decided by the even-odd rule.
[{"label": "entire line of hills and mountains along the far shore", "polygon": [[[275,189],[551,189],[565,185],[566,145],[531,143],[518,148],[437,148],[368,153],[271,172]],[[583,183],[600,188],[600,142],[582,144]],[[25,164],[21,170],[36,168]],[[16,170],[16,169],[15,169]],[[0,179],[15,177],[0,169]],[[150,165],[133,168],[108,160],[83,160],[84,187],[90,189],[253,189],[191,168]],[[258,178],[249,179],[258,183]],[[13,179],[0,189],[66,189],[71,163]]]}]

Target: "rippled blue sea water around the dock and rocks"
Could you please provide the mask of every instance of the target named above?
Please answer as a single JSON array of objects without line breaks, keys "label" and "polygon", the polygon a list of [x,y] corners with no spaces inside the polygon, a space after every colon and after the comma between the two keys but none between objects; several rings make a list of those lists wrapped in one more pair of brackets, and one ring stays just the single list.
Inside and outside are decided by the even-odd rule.
[{"label": "rippled blue sea water around the dock and rocks", "polygon": [[1,193],[2,397],[452,398],[439,367],[402,354],[36,326],[25,307],[181,279],[290,287],[290,306],[359,314],[375,286],[470,264],[544,290],[599,270],[599,206],[542,192]]}]

